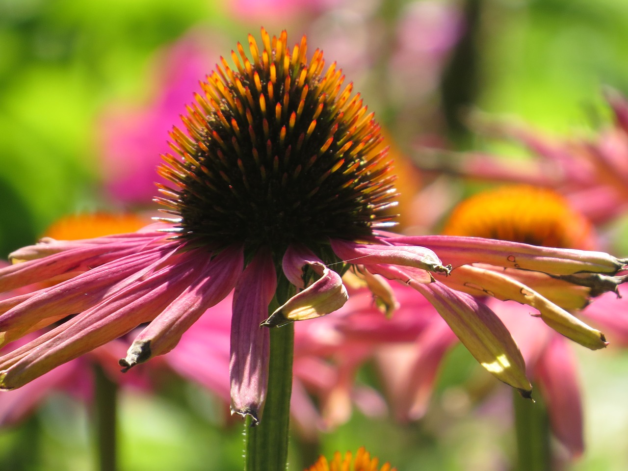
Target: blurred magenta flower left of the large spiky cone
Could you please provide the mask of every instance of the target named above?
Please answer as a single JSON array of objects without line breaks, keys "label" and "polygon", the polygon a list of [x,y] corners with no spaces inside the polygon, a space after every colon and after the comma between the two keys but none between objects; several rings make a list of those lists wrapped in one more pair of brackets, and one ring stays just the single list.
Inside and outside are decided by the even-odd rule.
[{"label": "blurred magenta flower left of the large spiky cone", "polygon": [[100,159],[107,192],[115,201],[146,205],[155,194],[156,181],[166,183],[155,172],[160,154],[171,151],[166,141],[173,123],[185,114],[194,92],[201,92],[202,78],[217,60],[207,47],[207,37],[188,35],[153,59],[148,104],[121,103],[102,112],[99,130]]}]

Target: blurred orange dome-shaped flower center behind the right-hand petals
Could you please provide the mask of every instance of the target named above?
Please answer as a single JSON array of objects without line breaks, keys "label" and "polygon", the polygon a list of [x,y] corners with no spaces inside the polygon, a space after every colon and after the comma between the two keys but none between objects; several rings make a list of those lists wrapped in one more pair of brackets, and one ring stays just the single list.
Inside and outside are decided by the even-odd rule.
[{"label": "blurred orange dome-shaped flower center behind the right-hand petals", "polygon": [[477,193],[453,209],[443,234],[535,246],[595,249],[590,222],[546,188],[513,185]]}]

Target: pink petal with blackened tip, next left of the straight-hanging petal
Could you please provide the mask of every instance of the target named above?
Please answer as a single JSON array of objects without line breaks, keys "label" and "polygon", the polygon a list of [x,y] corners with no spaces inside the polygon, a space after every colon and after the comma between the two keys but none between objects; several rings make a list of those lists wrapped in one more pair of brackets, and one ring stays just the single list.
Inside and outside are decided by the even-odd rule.
[{"label": "pink petal with blackened tip, next left of the straight-hanging petal", "polygon": [[183,332],[233,290],[243,264],[241,246],[224,249],[212,259],[208,257],[192,284],[135,338],[123,360],[124,366],[128,369],[155,355],[170,352]]}]

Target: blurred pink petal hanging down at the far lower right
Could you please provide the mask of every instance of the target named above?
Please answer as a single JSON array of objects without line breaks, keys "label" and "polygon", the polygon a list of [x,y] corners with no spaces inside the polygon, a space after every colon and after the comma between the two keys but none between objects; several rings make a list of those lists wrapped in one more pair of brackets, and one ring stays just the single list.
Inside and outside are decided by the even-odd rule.
[{"label": "blurred pink petal hanging down at the far lower right", "polygon": [[573,458],[584,451],[582,400],[576,360],[569,345],[554,335],[534,368],[556,438]]}]

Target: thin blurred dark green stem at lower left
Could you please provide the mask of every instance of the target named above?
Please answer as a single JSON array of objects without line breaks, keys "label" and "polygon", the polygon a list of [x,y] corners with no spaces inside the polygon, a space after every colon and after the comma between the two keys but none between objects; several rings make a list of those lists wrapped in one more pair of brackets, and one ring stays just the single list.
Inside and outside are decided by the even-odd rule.
[{"label": "thin blurred dark green stem at lower left", "polygon": [[99,471],[116,471],[117,385],[94,365],[95,410],[94,428]]}]

